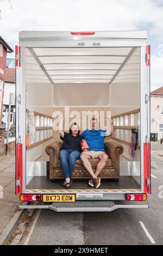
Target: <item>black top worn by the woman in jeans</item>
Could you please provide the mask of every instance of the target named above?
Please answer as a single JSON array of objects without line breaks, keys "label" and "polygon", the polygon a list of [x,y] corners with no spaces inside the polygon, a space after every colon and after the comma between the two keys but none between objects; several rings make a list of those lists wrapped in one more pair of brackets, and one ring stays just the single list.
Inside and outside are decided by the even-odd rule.
[{"label": "black top worn by the woman in jeans", "polygon": [[73,136],[70,133],[64,132],[64,138],[60,136],[61,140],[64,142],[61,149],[77,149],[82,151],[80,141],[84,139],[83,136]]}]

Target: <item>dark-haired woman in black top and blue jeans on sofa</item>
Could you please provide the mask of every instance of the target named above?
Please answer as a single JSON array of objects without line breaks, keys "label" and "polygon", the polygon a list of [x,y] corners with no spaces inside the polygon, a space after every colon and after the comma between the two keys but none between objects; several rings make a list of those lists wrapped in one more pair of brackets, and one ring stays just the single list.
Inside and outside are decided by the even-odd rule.
[{"label": "dark-haired woman in black top and blue jeans on sofa", "polygon": [[[61,118],[61,121],[63,117]],[[80,135],[79,126],[73,123],[70,126],[69,133],[59,130],[60,138],[64,142],[59,153],[61,168],[64,173],[65,182],[62,184],[64,187],[69,188],[72,184],[72,173],[76,160],[79,159],[81,153],[80,141],[83,137]]]}]

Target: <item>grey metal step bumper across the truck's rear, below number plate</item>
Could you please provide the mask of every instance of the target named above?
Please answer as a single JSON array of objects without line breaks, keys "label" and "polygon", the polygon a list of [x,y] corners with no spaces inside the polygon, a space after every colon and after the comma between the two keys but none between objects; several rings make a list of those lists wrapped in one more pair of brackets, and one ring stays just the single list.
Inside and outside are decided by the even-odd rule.
[{"label": "grey metal step bumper across the truck's rear, below number plate", "polygon": [[79,200],[75,203],[53,203],[51,205],[20,205],[19,209],[49,209],[56,212],[110,212],[116,209],[147,209],[148,205],[115,204],[114,200],[89,201]]}]

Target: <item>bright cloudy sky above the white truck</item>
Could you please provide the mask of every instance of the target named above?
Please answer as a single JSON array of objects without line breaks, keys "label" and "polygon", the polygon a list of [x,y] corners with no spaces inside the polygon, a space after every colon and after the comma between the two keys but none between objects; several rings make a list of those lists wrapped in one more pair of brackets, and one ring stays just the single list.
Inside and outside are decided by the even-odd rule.
[{"label": "bright cloudy sky above the white truck", "polygon": [[0,35],[13,50],[20,31],[145,30],[151,90],[163,86],[163,0],[0,0],[0,10]]}]

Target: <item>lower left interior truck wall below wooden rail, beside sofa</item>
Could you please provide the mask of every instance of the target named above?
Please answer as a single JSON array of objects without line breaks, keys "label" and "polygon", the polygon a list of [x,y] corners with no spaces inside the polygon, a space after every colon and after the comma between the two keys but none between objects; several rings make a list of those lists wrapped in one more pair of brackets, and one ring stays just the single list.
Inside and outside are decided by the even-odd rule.
[{"label": "lower left interior truck wall below wooden rail, beside sofa", "polygon": [[46,155],[45,148],[46,146],[51,143],[53,139],[49,139],[46,142],[43,142],[36,147],[30,148],[26,150],[26,185],[32,180],[34,176],[46,176],[46,161],[45,161],[45,168],[41,168],[40,164],[36,162],[36,160]]}]

